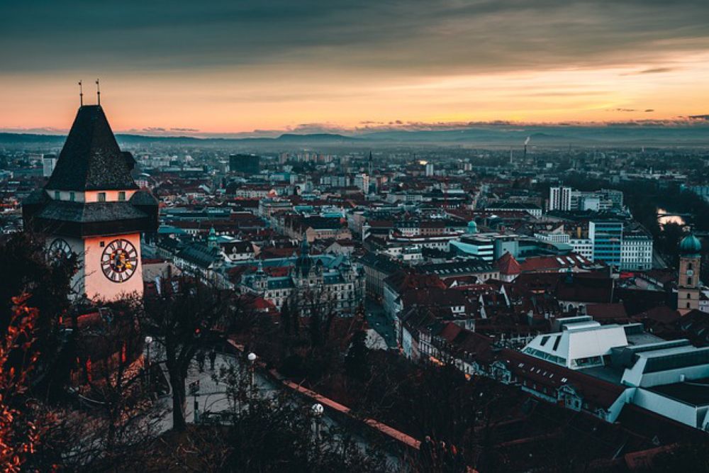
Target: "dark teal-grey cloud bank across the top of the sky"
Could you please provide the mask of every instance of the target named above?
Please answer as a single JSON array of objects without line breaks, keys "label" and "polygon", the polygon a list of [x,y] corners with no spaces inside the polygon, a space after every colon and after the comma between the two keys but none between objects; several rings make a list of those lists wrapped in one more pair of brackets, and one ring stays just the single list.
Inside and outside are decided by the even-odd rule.
[{"label": "dark teal-grey cloud bank across the top of the sky", "polygon": [[0,64],[97,74],[594,67],[704,51],[706,18],[704,0],[6,1]]}]

